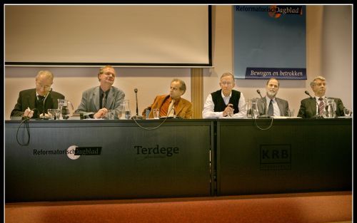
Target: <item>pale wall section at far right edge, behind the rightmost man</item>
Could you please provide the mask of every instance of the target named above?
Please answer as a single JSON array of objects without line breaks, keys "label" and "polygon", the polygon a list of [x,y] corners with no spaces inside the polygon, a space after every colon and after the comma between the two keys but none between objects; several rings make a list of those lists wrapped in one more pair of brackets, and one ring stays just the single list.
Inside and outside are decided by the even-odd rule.
[{"label": "pale wall section at far right edge, behind the rightmost man", "polygon": [[322,74],[328,78],[328,92],[352,108],[352,11],[351,6],[324,6]]}]

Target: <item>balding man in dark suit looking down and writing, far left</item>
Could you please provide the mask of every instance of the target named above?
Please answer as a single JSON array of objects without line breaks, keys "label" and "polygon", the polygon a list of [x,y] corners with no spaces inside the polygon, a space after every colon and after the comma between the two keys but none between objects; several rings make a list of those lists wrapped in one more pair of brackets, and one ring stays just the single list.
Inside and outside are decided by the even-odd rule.
[{"label": "balding man in dark suit looking down and writing, far left", "polygon": [[64,99],[64,95],[52,91],[52,83],[54,83],[54,75],[51,71],[39,71],[36,76],[36,88],[21,90],[10,116],[22,116],[22,118],[48,117],[47,110],[58,108],[58,99]]}]

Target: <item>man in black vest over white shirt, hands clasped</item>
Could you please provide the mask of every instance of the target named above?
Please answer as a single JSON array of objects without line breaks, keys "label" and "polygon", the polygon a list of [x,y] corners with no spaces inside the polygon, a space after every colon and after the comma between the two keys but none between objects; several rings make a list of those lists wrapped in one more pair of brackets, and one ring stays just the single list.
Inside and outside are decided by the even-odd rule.
[{"label": "man in black vest over white shirt, hands clasped", "polygon": [[233,74],[223,73],[219,85],[221,90],[208,95],[202,118],[246,117],[246,100],[243,93],[233,90],[235,86]]}]

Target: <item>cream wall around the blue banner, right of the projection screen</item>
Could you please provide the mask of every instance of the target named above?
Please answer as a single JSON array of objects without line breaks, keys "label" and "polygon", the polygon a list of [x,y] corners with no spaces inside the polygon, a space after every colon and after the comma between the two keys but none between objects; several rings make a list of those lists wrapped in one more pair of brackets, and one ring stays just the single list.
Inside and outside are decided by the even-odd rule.
[{"label": "cream wall around the blue banner, right of the projection screen", "polygon": [[[300,108],[304,93],[313,91],[310,82],[316,76],[327,78],[326,95],[338,97],[352,107],[352,26],[351,6],[307,6],[306,68],[308,80],[279,80],[278,97],[288,100],[289,107]],[[219,88],[219,76],[233,71],[232,10],[231,6],[213,7],[213,66],[206,72],[203,95]],[[236,90],[245,98],[259,97],[256,89],[265,93],[267,80],[236,80]]]}]

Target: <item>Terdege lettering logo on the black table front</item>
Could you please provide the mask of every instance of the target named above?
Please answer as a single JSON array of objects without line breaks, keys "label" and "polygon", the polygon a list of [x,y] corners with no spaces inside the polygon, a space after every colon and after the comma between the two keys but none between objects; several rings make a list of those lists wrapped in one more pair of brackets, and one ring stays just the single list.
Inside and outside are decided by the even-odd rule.
[{"label": "Terdege lettering logo on the black table front", "polygon": [[166,158],[173,157],[180,152],[179,147],[174,146],[159,146],[158,144],[154,146],[144,146],[144,145],[134,145],[134,150],[136,152],[136,161],[145,160],[148,158]]}]

